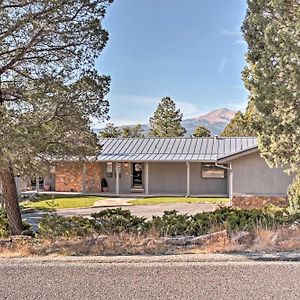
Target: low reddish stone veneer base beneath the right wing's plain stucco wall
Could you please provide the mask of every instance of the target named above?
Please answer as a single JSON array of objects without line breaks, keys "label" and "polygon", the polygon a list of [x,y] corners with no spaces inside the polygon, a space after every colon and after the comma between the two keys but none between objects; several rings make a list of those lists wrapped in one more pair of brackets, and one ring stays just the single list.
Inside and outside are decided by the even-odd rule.
[{"label": "low reddish stone veneer base beneath the right wing's plain stucco wall", "polygon": [[263,208],[269,204],[279,207],[287,207],[289,204],[286,196],[240,196],[234,195],[232,198],[232,206],[235,208],[253,209]]}]

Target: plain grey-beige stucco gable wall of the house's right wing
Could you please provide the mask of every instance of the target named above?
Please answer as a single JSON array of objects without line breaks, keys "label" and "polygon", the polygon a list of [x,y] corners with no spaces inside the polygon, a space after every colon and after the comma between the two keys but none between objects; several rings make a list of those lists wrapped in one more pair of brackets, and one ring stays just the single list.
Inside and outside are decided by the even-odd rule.
[{"label": "plain grey-beige stucco gable wall of the house's right wing", "polygon": [[282,169],[270,168],[259,152],[231,161],[233,169],[233,194],[236,195],[286,195],[292,177]]}]

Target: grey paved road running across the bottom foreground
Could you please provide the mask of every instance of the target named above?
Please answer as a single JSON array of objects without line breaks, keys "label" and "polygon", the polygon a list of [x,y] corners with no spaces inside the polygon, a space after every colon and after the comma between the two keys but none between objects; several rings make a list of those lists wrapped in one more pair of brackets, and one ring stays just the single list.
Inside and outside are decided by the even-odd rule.
[{"label": "grey paved road running across the bottom foreground", "polygon": [[0,299],[7,300],[293,300],[299,280],[299,262],[226,256],[0,259]]}]

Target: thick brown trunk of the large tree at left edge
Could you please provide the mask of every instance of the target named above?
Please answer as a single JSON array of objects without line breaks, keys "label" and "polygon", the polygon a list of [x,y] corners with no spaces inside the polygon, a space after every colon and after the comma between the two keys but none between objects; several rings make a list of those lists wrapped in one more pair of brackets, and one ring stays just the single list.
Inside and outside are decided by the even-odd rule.
[{"label": "thick brown trunk of the large tree at left edge", "polygon": [[18,192],[14,171],[10,162],[1,166],[0,180],[2,182],[2,197],[9,221],[11,235],[21,234],[22,218],[18,201]]}]

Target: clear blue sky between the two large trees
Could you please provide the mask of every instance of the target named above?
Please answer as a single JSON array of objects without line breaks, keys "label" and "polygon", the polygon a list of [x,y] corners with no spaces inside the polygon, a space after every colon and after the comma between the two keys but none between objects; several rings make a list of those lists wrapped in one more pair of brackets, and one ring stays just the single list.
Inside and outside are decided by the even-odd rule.
[{"label": "clear blue sky between the two large trees", "polygon": [[190,118],[244,109],[245,0],[115,0],[103,22],[110,40],[97,69],[111,76],[111,122],[148,122],[170,96]]}]

